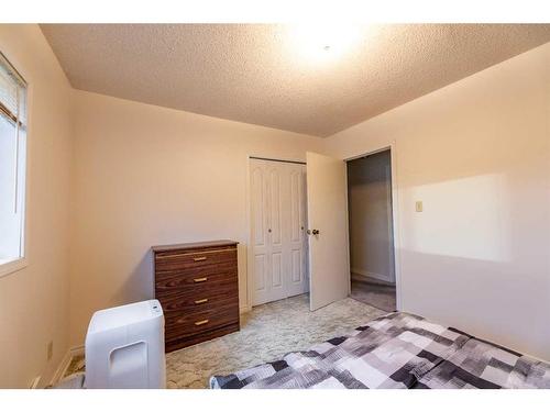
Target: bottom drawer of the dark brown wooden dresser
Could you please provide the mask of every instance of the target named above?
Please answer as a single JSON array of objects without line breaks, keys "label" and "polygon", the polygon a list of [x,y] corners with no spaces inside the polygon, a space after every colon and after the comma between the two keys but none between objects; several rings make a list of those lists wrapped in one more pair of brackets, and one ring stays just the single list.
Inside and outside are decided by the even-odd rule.
[{"label": "bottom drawer of the dark brown wooden dresser", "polygon": [[235,323],[239,323],[237,301],[199,312],[174,311],[165,318],[165,338],[169,342]]}]

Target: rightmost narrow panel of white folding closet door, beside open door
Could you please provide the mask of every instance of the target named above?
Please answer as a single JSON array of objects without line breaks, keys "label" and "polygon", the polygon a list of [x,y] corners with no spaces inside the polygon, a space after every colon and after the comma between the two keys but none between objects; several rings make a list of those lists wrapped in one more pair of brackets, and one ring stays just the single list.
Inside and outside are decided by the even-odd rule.
[{"label": "rightmost narrow panel of white folding closet door, beside open door", "polygon": [[307,278],[306,240],[306,166],[289,164],[286,167],[288,179],[288,271],[287,296],[306,293],[309,289]]}]

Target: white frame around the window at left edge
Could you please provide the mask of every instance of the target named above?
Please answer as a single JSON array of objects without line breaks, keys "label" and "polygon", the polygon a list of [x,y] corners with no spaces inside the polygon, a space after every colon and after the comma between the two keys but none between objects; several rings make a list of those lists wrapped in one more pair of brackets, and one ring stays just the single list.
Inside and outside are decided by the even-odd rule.
[{"label": "white frame around the window at left edge", "polygon": [[0,278],[6,277],[8,275],[14,274],[26,266],[29,266],[29,236],[28,236],[28,230],[29,230],[29,152],[30,152],[30,135],[31,135],[31,108],[32,108],[32,86],[30,82],[26,81],[28,76],[25,76],[24,71],[20,69],[22,65],[19,64],[16,58],[9,58],[3,51],[0,51],[0,55],[3,59],[6,59],[10,66],[15,70],[15,74],[24,81],[26,85],[26,137],[25,137],[25,154],[24,154],[24,193],[23,193],[23,202],[21,204],[21,208],[23,208],[23,215],[22,215],[22,230],[21,230],[21,244],[23,245],[23,254],[21,257],[10,260],[7,263],[0,263]]}]

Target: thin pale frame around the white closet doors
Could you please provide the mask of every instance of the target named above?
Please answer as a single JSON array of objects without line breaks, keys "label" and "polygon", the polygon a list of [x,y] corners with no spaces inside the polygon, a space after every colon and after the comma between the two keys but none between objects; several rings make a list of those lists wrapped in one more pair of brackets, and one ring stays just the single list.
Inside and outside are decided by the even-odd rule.
[{"label": "thin pale frame around the white closet doors", "polygon": [[[245,246],[245,256],[246,256],[246,304],[240,303],[240,312],[249,312],[252,310],[252,293],[253,293],[253,286],[254,286],[254,277],[251,276],[252,274],[252,253],[251,252],[251,245],[252,245],[252,208],[251,208],[251,179],[250,179],[250,165],[251,160],[257,159],[257,160],[267,160],[267,162],[282,162],[282,163],[294,163],[294,164],[299,164],[299,165],[306,165],[305,160],[299,160],[299,159],[284,159],[284,158],[277,158],[277,157],[268,157],[268,156],[261,156],[261,155],[252,155],[248,154],[246,155],[246,185],[245,185],[245,191],[244,191],[244,201],[246,202],[246,246]],[[309,270],[309,268],[308,268]],[[309,274],[308,274],[309,277]],[[308,283],[309,283],[308,279]]]}]

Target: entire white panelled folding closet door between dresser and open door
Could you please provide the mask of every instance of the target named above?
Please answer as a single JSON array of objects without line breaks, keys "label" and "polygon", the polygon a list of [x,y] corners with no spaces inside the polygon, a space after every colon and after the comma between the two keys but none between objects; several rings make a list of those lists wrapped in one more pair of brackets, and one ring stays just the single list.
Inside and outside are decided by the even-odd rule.
[{"label": "entire white panelled folding closet door between dresser and open door", "polygon": [[309,289],[305,165],[251,159],[252,305]]}]

